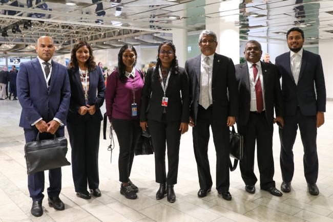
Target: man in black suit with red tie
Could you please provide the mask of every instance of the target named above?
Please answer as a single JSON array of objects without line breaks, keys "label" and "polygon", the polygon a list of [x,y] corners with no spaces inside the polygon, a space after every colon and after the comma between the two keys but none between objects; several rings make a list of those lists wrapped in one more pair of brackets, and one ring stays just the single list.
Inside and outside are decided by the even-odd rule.
[{"label": "man in black suit with red tie", "polygon": [[236,122],[238,132],[244,138],[240,171],[245,190],[255,193],[257,177],[253,169],[257,141],[260,189],[275,196],[282,196],[273,180],[273,123],[279,122],[283,127],[280,74],[275,65],[260,61],[261,54],[260,43],[250,40],[246,43],[244,51],[246,62],[235,65],[239,91]]}]

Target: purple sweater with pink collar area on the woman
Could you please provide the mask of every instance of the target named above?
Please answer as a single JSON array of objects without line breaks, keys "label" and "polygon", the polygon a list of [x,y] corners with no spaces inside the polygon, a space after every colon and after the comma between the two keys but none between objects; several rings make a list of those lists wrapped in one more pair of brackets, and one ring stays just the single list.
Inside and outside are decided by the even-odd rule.
[{"label": "purple sweater with pink collar area on the woman", "polygon": [[[133,103],[133,86],[135,83],[135,103],[138,107],[138,115],[131,116],[131,104]],[[109,119],[132,120],[139,119],[139,108],[142,95],[143,80],[140,73],[135,70],[135,78],[132,76],[126,78],[126,82],[120,82],[118,71],[111,73],[107,80],[107,91],[105,95],[105,103],[107,108],[107,116]]]}]

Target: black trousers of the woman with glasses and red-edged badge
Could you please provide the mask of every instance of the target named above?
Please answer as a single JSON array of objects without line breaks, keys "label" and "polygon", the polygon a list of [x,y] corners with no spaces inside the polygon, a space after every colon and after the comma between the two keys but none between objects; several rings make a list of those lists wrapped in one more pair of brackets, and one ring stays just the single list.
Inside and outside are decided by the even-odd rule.
[{"label": "black trousers of the woman with glasses and red-edged badge", "polygon": [[[177,184],[181,136],[179,126],[180,121],[166,122],[165,117],[161,122],[148,120],[155,153],[156,183]],[[166,175],[165,170],[165,141],[168,146],[168,175]]]}]

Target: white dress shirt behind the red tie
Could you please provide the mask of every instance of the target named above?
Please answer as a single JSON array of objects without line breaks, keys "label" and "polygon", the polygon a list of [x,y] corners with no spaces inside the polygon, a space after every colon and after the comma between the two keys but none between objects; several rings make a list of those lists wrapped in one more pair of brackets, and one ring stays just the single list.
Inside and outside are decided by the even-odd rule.
[{"label": "white dress shirt behind the red tie", "polygon": [[[247,61],[247,67],[248,67],[248,79],[249,79],[249,85],[250,85],[250,91],[251,91],[251,102],[250,102],[250,111],[251,112],[257,112],[257,98],[256,98],[256,88],[255,88],[255,79],[253,75],[253,62]],[[263,100],[263,110],[265,110],[265,89],[264,89],[264,80],[262,78],[262,69],[261,69],[261,63],[260,61],[256,62],[256,67],[258,70],[260,84],[261,84],[261,90],[262,90],[262,100]]]}]

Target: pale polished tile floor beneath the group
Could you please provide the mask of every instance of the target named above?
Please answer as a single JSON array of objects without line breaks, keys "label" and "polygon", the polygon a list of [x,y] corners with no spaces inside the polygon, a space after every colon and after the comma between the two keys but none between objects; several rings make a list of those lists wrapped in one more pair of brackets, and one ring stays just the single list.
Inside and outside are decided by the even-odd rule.
[{"label": "pale polished tile floor beneath the group", "polygon": [[[110,163],[109,140],[100,139],[99,176],[102,196],[89,200],[76,197],[71,167],[63,167],[63,189],[60,198],[65,211],[50,208],[43,202],[44,214],[37,218],[30,214],[31,198],[27,188],[24,159],[23,129],[18,127],[20,105],[17,101],[0,101],[0,221],[333,221],[333,102],[327,102],[325,124],[319,128],[318,187],[320,195],[306,192],[303,174],[303,150],[298,135],[295,148],[295,176],[292,192],[282,197],[261,191],[257,184],[255,194],[248,194],[239,168],[231,172],[228,202],[212,190],[204,198],[197,197],[198,176],[193,154],[191,129],[181,139],[177,201],[170,204],[163,198],[155,199],[158,184],[154,180],[154,157],[137,156],[134,159],[131,180],[139,187],[136,200],[120,195],[118,182],[118,144]],[[67,134],[67,132],[66,132]],[[68,137],[68,134],[67,134]],[[275,181],[280,189],[280,142],[277,126],[274,132]],[[70,159],[70,150],[67,155]],[[215,150],[210,142],[209,158],[215,181]],[[258,174],[258,167],[255,166]],[[46,177],[47,178],[47,177]],[[46,181],[48,187],[48,181]]]}]

